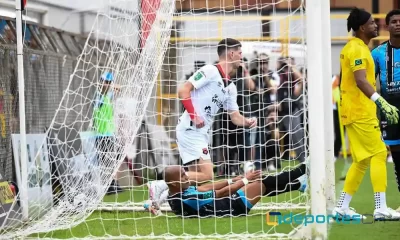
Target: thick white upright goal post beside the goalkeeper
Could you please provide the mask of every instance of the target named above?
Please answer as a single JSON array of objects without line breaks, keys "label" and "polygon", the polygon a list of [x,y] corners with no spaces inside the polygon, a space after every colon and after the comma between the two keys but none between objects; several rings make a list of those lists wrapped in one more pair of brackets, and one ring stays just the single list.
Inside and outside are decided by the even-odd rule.
[{"label": "thick white upright goal post beside the goalkeeper", "polygon": [[[307,0],[308,108],[310,126],[311,214],[327,215],[328,200],[334,201],[333,122],[330,45],[330,2]],[[334,188],[332,188],[334,191]],[[332,196],[333,195],[333,196]],[[312,224],[313,239],[327,239],[328,222]]]}]

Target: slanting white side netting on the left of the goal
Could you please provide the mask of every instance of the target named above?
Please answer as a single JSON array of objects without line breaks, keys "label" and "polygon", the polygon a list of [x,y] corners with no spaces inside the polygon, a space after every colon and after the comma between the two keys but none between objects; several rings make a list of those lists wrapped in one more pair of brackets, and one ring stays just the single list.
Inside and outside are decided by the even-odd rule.
[{"label": "slanting white side netting on the left of the goal", "polygon": [[[71,228],[84,221],[102,201],[112,175],[123,159],[124,146],[135,137],[167,48],[174,2],[160,1],[158,6],[153,6],[151,16],[132,14],[129,6],[134,2],[111,1],[110,4],[120,9],[120,13],[113,16],[99,12],[75,70],[69,69],[72,75],[59,106],[54,107],[56,114],[46,132],[47,139],[35,146],[28,145],[28,151],[36,148],[35,153],[46,145],[42,153],[50,162],[49,169],[37,164],[28,168],[27,182],[33,185],[28,190],[28,219],[23,219],[20,211],[9,211],[3,222],[8,227],[2,238]],[[139,18],[151,26],[142,29],[142,37],[138,35]],[[63,68],[61,71],[68,71],[68,68],[60,67]],[[108,87],[106,81],[111,79],[100,80],[107,72],[113,74]],[[126,134],[116,135],[112,140],[106,136],[107,131],[103,132],[106,137],[101,138],[91,134],[92,131],[103,131],[100,129],[103,126],[96,126],[93,118],[101,122],[112,114],[99,112],[96,116],[96,107],[116,104],[114,100],[107,102],[107,99],[99,98],[99,92],[105,88],[113,89],[108,92],[113,92],[114,99],[129,98],[130,101],[129,108],[123,109],[128,117],[118,123],[120,119],[116,118],[115,123],[111,123],[118,129],[125,129]],[[86,137],[80,137],[82,132]],[[83,144],[95,148],[86,151]],[[35,161],[41,161],[40,155],[35,157]],[[50,168],[52,174],[46,175]],[[24,176],[21,175],[19,180],[23,185]],[[58,184],[58,189],[50,201],[43,203],[36,199],[52,194],[51,187],[47,188],[49,192],[43,192],[42,188],[51,184]],[[34,189],[34,186],[38,188]],[[34,194],[35,190],[40,193]],[[15,204],[21,202],[23,199]]]}]

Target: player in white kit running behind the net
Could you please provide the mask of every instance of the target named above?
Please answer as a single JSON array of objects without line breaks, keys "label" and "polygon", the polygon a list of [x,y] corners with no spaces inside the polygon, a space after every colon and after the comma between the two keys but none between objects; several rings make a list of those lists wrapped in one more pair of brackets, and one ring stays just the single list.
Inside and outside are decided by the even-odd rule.
[{"label": "player in white kit running behind the net", "polygon": [[[205,65],[179,87],[178,94],[185,108],[176,126],[179,154],[187,175],[193,184],[210,181],[214,177],[213,164],[208,150],[209,134],[215,115],[222,109],[228,111],[237,126],[253,128],[256,118],[245,118],[236,103],[237,89],[230,75],[242,64],[241,43],[227,38],[218,43],[217,65]],[[145,208],[152,213],[168,196],[168,186],[163,180],[148,183],[150,201]]]}]

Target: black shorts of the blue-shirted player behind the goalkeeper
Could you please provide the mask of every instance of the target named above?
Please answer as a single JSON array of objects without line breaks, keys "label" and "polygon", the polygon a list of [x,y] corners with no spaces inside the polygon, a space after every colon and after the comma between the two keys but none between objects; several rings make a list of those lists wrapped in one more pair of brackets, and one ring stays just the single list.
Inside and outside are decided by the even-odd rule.
[{"label": "black shorts of the blue-shirted player behind the goalkeeper", "polygon": [[[397,107],[400,110],[400,98],[387,99],[388,103]],[[382,138],[386,145],[400,145],[400,122],[393,125],[388,125],[383,114],[380,114],[380,126],[382,131]]]}]

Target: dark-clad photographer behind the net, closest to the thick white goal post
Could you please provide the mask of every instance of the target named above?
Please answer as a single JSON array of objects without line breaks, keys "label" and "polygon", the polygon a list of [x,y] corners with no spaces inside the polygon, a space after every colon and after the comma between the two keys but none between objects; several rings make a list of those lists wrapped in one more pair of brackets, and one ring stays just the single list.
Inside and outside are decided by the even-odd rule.
[{"label": "dark-clad photographer behind the net, closest to the thick white goal post", "polygon": [[[280,85],[277,91],[279,107],[279,122],[283,132],[289,137],[292,149],[285,149],[284,158],[290,159],[290,151],[295,151],[296,159],[305,159],[304,128],[301,124],[302,112],[301,94],[303,92],[303,77],[296,69],[293,59],[280,58],[278,62]],[[287,144],[285,144],[286,147]]]}]

